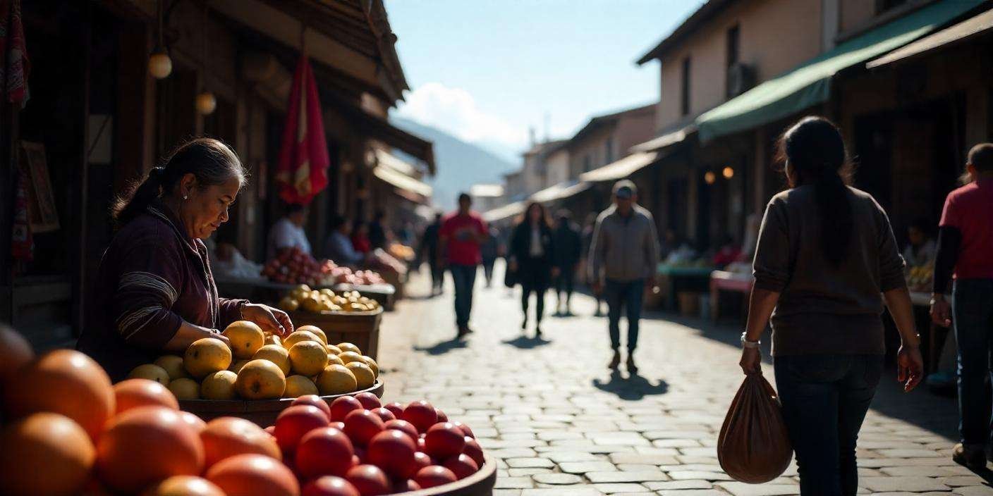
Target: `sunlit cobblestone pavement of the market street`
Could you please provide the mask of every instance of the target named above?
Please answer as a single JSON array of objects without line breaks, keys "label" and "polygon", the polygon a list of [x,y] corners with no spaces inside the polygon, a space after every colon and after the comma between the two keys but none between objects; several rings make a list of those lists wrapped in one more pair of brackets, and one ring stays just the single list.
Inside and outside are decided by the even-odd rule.
[{"label": "sunlit cobblestone pavement of the market street", "polygon": [[[436,299],[421,297],[421,279],[408,288],[380,332],[384,399],[427,399],[471,426],[498,459],[497,496],[797,493],[794,466],[748,485],[718,465],[717,433],[742,379],[740,330],[653,315],[641,324],[638,375],[612,375],[607,322],[590,316],[589,297],[574,298],[580,316],[547,316],[538,341],[521,337],[516,294],[478,280],[476,332],[460,343],[450,287]],[[954,408],[884,380],[859,441],[860,492],[993,494],[950,459]]]}]

